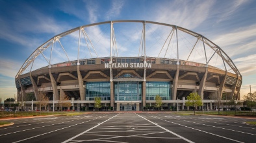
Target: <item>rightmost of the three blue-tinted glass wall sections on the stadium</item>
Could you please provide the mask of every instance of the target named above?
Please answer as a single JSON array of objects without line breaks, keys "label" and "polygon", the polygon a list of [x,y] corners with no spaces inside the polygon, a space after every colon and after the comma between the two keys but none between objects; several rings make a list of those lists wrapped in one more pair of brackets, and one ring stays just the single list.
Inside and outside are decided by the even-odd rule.
[{"label": "rightmost of the three blue-tinted glass wall sections on the stadium", "polygon": [[146,100],[155,100],[160,95],[162,100],[171,100],[170,82],[146,82]]}]

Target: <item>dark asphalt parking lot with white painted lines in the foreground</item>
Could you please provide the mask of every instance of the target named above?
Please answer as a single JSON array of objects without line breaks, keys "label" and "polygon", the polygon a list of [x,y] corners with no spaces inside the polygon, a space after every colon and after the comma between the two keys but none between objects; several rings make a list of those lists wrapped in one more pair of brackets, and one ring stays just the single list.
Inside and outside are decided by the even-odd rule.
[{"label": "dark asphalt parking lot with white painted lines in the foreground", "polygon": [[5,142],[252,142],[251,118],[181,116],[175,113],[87,113],[8,120]]}]

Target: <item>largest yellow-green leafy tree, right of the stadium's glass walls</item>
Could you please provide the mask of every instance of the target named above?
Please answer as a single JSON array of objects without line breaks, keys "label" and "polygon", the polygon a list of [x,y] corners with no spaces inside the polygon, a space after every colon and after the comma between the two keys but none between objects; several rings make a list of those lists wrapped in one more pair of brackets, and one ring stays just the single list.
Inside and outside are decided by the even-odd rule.
[{"label": "largest yellow-green leafy tree, right of the stadium's glass walls", "polygon": [[187,96],[188,101],[186,101],[186,106],[194,107],[194,115],[196,115],[196,107],[203,105],[201,97],[198,93],[190,93]]}]

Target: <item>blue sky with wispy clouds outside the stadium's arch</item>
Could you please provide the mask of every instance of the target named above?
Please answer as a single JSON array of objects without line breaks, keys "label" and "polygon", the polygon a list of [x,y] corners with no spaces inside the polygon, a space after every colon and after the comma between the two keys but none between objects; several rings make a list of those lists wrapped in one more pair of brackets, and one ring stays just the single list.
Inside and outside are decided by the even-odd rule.
[{"label": "blue sky with wispy clouds outside the stadium's arch", "polygon": [[243,96],[250,85],[256,91],[255,16],[253,0],[0,0],[0,98],[14,98],[19,68],[48,39],[81,25],[122,19],[177,25],[211,39],[242,74]]}]

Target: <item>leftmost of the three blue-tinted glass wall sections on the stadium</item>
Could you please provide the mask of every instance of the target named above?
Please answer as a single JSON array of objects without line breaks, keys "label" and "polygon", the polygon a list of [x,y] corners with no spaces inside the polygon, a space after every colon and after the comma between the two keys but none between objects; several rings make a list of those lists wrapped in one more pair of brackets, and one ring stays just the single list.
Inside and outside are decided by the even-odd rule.
[{"label": "leftmost of the three blue-tinted glass wall sections on the stadium", "polygon": [[86,100],[110,100],[110,82],[86,82]]}]

